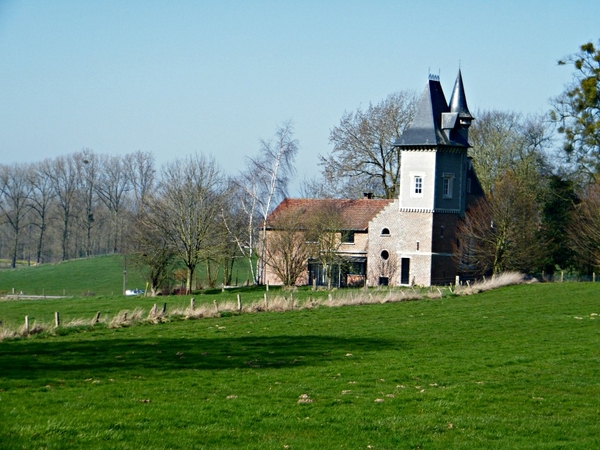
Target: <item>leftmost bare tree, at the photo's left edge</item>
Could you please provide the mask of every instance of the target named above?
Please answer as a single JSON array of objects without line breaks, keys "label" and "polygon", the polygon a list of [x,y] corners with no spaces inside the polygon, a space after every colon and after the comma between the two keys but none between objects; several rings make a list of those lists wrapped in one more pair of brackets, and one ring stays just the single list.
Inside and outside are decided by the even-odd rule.
[{"label": "leftmost bare tree, at the photo's left edge", "polygon": [[10,225],[13,234],[11,249],[11,267],[17,264],[19,239],[25,228],[25,217],[31,209],[29,196],[31,184],[27,177],[27,169],[23,165],[0,166],[0,211]]}]

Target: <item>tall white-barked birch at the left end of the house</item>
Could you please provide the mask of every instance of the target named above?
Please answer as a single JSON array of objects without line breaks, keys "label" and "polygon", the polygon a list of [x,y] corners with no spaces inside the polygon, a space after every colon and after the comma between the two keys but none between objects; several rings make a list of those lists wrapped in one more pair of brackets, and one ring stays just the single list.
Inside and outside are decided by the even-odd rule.
[{"label": "tall white-barked birch at the left end of the house", "polygon": [[261,141],[258,156],[248,158],[246,171],[237,179],[237,184],[243,191],[240,200],[247,214],[248,236],[247,245],[243,245],[240,239],[237,242],[240,251],[246,255],[251,265],[256,248],[256,226],[258,220],[262,220],[262,232],[258,243],[261,253],[258,255],[257,270],[253,274],[255,283],[263,282],[267,217],[277,201],[285,197],[289,179],[295,173],[294,159],[298,153],[298,141],[293,136],[292,122],[288,121],[279,126],[271,140]]}]

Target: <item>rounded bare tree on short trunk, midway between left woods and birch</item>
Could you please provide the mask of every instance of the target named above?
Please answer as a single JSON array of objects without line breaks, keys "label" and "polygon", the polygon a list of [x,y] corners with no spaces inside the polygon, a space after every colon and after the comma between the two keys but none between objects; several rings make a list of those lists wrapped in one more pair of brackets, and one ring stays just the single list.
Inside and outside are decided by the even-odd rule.
[{"label": "rounded bare tree on short trunk, midway between left woods and birch", "polygon": [[220,251],[223,178],[215,163],[194,155],[166,164],[148,201],[148,220],[187,269],[186,292],[198,264]]}]

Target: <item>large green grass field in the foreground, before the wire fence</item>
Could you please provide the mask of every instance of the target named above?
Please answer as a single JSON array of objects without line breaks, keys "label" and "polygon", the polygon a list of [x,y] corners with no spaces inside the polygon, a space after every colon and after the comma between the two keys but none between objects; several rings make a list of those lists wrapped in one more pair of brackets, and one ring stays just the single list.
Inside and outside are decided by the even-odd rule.
[{"label": "large green grass field in the foreground, before the wire fence", "polygon": [[0,446],[598,448],[599,295],[521,285],[7,340]]}]

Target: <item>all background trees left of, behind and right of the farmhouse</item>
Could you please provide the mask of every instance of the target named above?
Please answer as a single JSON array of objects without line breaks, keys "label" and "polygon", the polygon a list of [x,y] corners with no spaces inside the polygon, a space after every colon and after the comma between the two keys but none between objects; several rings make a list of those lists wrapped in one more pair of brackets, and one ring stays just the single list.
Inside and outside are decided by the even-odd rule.
[{"label": "all background trees left of, behind and right of the farmhouse", "polygon": [[[469,152],[485,198],[459,227],[455,253],[465,273],[600,267],[600,49],[584,44],[559,64],[572,67],[573,81],[547,113],[474,113]],[[401,160],[391,143],[410,124],[417,100],[402,91],[345,112],[330,131],[332,150],[320,156],[319,176],[302,182],[301,195],[397,197]],[[18,260],[127,252],[147,268],[154,292],[176,270],[192,290],[200,264],[209,284],[219,270],[229,284],[234,259],[245,258],[261,283],[266,218],[287,195],[297,151],[286,122],[236,175],[203,155],[156,168],[142,151],[83,149],[0,165],[0,257],[15,267]]]}]

